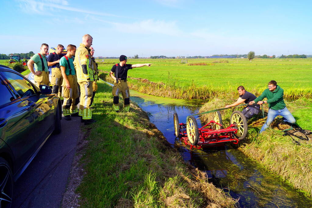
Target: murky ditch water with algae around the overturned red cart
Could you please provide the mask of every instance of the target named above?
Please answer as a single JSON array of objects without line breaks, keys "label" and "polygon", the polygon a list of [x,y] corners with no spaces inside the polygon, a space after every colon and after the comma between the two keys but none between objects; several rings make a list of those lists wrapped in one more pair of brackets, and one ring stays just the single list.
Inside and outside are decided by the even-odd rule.
[{"label": "murky ditch water with algae around the overturned red cart", "polygon": [[[190,150],[176,140],[173,113],[185,122],[188,115],[198,112],[201,101],[160,98],[131,91],[132,102],[149,113],[150,121],[178,149],[185,161],[207,173],[209,181],[239,199],[240,207],[312,207],[312,200],[268,172],[241,151],[228,146]],[[197,120],[201,126],[200,121]]]}]

